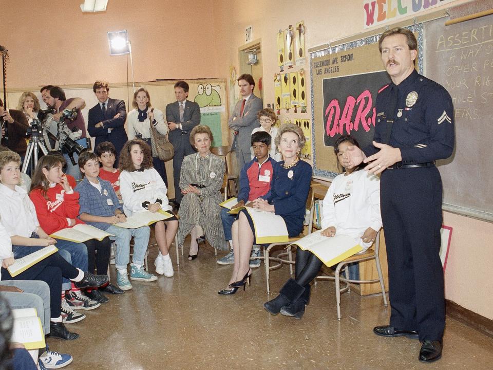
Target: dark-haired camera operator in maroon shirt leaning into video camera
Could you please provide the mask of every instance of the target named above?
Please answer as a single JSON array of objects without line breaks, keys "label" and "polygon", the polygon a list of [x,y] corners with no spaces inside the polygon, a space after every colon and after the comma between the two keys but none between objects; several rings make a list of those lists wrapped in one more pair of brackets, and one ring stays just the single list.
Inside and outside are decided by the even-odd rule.
[{"label": "dark-haired camera operator in maroon shirt leaning into video camera", "polygon": [[[52,86],[49,88],[46,88],[45,90],[42,91],[42,97],[43,101],[48,105],[49,108],[54,109],[55,113],[53,114],[52,119],[56,122],[60,120],[63,114],[64,109],[72,110],[72,109],[77,109],[77,118],[75,118],[73,121],[66,120],[65,124],[67,127],[71,130],[74,131],[82,131],[81,137],[77,141],[77,143],[81,144],[84,147],[87,147],[87,142],[86,142],[86,125],[84,123],[84,117],[82,117],[81,114],[81,109],[85,106],[85,101],[82,98],[69,98],[67,99],[65,97],[65,93],[63,89],[59,86]],[[67,161],[67,174],[72,175],[76,180],[80,180],[82,178],[81,176],[81,171],[79,170],[79,165],[77,164],[77,161],[79,159],[79,156],[77,153],[73,154],[74,160],[75,160],[75,165],[72,164],[70,157],[68,153],[66,153],[66,150],[61,148],[62,154],[65,157],[65,160]]]}]

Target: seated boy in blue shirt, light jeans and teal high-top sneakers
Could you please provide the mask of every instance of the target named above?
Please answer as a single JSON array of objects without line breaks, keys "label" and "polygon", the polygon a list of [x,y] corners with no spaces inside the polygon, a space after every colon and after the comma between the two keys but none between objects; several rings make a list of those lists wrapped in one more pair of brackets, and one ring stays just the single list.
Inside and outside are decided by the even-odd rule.
[{"label": "seated boy in blue shirt, light jeans and teal high-top sneakers", "polygon": [[[134,255],[132,256],[132,264],[130,264],[130,279],[146,282],[157,280],[157,276],[144,270],[144,258],[149,243],[149,227],[125,229],[112,225],[125,222],[126,216],[111,183],[99,177],[98,156],[91,152],[82,153],[79,157],[79,167],[84,174],[82,181],[75,187],[75,191],[80,194],[79,218],[89,225],[115,235],[110,236],[110,239],[116,241],[117,244],[115,265],[118,287],[123,290],[132,289],[127,277],[132,236],[134,236]],[[96,294],[103,296],[98,291]],[[103,299],[107,300],[104,296]]]}]

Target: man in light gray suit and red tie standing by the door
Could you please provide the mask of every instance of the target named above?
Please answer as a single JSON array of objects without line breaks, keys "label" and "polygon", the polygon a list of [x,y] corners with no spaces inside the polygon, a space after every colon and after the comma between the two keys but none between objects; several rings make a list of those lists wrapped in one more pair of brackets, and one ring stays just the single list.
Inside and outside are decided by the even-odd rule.
[{"label": "man in light gray suit and red tie standing by the door", "polygon": [[238,160],[238,172],[240,172],[245,163],[251,160],[252,130],[260,127],[257,112],[263,108],[263,103],[262,99],[253,94],[255,81],[252,75],[243,74],[238,77],[237,81],[243,99],[236,103],[235,111],[227,124],[235,131],[233,140],[236,141],[236,159]]}]

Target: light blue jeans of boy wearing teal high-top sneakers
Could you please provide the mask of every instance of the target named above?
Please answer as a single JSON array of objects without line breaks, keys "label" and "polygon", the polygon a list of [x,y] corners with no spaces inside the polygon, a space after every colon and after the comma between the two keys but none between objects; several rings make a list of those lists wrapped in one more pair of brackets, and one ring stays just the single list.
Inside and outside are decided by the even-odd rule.
[{"label": "light blue jeans of boy wearing teal high-top sneakers", "polygon": [[143,226],[137,229],[125,229],[111,225],[106,229],[106,232],[115,236],[110,236],[112,241],[117,244],[117,252],[115,254],[115,267],[118,270],[126,270],[130,262],[130,239],[134,237],[134,255],[132,262],[135,265],[142,266],[144,264],[145,252],[149,244],[150,228]]}]

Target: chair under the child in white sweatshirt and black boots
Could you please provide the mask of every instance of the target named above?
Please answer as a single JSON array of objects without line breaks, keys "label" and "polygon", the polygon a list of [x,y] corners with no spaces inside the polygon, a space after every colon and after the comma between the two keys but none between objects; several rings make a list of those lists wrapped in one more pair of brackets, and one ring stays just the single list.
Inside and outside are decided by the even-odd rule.
[{"label": "chair under the child in white sweatshirt and black boots", "polygon": [[[384,306],[387,307],[387,295],[385,294],[384,278],[382,275],[382,267],[380,266],[380,259],[378,258],[378,253],[380,251],[380,233],[382,229],[378,230],[376,234],[375,242],[373,245],[363,254],[354,254],[351,257],[346,258],[346,260],[341,261],[337,264],[334,272],[334,276],[319,275],[315,278],[314,284],[317,285],[317,280],[334,280],[335,281],[335,300],[337,303],[337,320],[340,320],[340,293],[350,292],[349,283],[359,283],[359,284],[369,284],[380,282],[380,287],[382,289],[382,297],[384,299]],[[349,269],[348,264],[355,262],[364,262],[374,260],[376,264],[376,271],[378,273],[378,279],[373,280],[352,280],[349,279]],[[345,276],[340,276],[340,270],[344,267]],[[345,286],[340,287],[340,282],[343,282]]]}]

